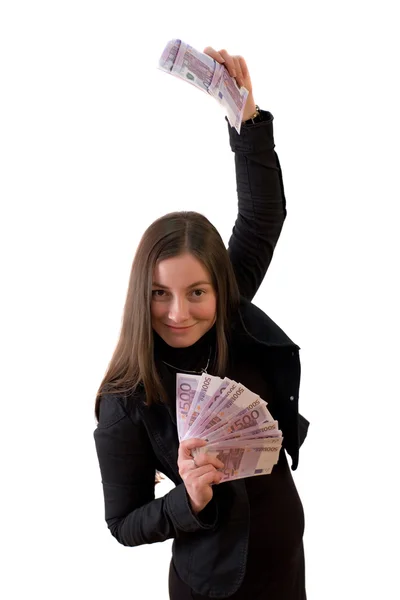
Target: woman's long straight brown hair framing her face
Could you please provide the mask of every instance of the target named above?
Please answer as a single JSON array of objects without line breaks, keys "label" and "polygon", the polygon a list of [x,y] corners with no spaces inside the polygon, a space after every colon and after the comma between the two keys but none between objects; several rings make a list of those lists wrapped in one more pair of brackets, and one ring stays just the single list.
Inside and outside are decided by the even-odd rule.
[{"label": "woman's long straight brown hair framing her face", "polygon": [[146,402],[165,401],[153,355],[152,279],[156,264],[189,252],[207,269],[217,296],[217,352],[213,372],[224,376],[229,324],[239,305],[239,290],[228,252],[216,228],[197,212],[173,212],[154,221],[136,250],[119,341],[96,396],[95,415],[104,393],[129,393],[144,386]]}]

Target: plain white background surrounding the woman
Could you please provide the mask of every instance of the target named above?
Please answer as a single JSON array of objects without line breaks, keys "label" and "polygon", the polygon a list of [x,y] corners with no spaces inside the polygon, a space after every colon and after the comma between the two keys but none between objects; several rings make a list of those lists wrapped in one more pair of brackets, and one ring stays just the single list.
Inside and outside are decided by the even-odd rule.
[{"label": "plain white background surrounding the woman", "polygon": [[255,303],[301,346],[308,598],[399,598],[395,4],[1,3],[3,598],[168,597],[170,542],[107,530],[92,433],[144,229],[197,210],[227,242],[236,216],[221,108],[156,68],[174,37],[242,54],[275,117]]}]

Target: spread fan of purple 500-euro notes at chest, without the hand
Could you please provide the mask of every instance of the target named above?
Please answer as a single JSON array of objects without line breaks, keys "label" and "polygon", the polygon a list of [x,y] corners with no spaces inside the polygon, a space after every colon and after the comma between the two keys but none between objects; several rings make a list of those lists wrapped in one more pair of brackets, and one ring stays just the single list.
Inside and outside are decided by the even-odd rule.
[{"label": "spread fan of purple 500-euro notes at chest, without the hand", "polygon": [[278,462],[278,422],[260,396],[232,379],[177,373],[176,417],[179,441],[207,442],[194,458],[206,452],[224,463],[222,481],[269,475]]}]

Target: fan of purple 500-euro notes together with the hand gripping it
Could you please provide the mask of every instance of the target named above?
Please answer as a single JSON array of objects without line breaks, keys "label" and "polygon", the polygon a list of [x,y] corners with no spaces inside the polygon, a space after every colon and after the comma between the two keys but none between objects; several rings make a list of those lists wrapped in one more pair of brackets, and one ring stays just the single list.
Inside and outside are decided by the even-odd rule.
[{"label": "fan of purple 500-euro notes together with the hand gripping it", "polygon": [[176,415],[178,465],[195,512],[211,500],[213,483],[269,475],[278,463],[278,421],[240,382],[177,373]]}]

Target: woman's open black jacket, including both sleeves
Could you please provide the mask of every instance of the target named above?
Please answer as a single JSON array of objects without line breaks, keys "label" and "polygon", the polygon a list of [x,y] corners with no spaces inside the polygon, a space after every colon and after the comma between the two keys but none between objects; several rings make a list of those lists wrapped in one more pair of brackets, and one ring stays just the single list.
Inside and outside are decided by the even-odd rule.
[{"label": "woman's open black jacket, including both sleeves", "polygon": [[[229,253],[242,295],[232,323],[237,341],[256,344],[265,354],[275,381],[284,448],[296,469],[308,421],[298,414],[299,347],[250,300],[272,258],[286,216],[278,157],[274,151],[272,115],[243,127],[228,126],[235,152],[239,214]],[[251,235],[249,235],[251,233]],[[240,586],[246,567],[249,510],[243,480],[215,486],[214,497],[193,514],[178,473],[178,436],[167,407],[147,407],[142,388],[127,395],[105,395],[94,432],[105,500],[105,518],[123,545],[174,538],[175,567],[197,593],[226,597]],[[176,487],[154,497],[155,471]],[[223,560],[221,560],[223,557]]]}]

